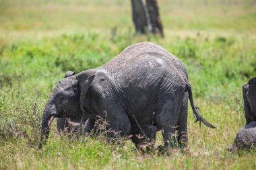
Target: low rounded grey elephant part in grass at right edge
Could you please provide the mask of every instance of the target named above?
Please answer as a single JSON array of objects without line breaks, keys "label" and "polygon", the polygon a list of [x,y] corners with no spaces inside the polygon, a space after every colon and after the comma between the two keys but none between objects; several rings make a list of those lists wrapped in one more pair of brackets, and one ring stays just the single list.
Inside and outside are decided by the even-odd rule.
[{"label": "low rounded grey elephant part in grass at right edge", "polygon": [[234,142],[230,146],[230,151],[238,151],[239,149],[248,149],[256,147],[256,121],[251,122],[236,134]]}]

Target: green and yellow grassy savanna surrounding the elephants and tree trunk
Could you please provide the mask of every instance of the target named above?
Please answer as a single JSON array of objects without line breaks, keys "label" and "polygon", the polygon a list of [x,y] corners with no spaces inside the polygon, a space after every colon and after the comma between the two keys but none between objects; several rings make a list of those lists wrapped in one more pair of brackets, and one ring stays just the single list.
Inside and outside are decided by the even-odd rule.
[{"label": "green and yellow grassy savanna surrounding the elephants and tree trunk", "polygon": [[[0,0],[0,169],[256,169],[255,151],[226,150],[245,124],[242,85],[256,75],[256,2],[158,5],[165,38],[135,34],[130,1]],[[185,64],[195,103],[217,128],[200,128],[189,106],[187,148],[143,154],[129,140],[59,136],[55,120],[38,150],[42,110],[65,72],[142,41]]]}]

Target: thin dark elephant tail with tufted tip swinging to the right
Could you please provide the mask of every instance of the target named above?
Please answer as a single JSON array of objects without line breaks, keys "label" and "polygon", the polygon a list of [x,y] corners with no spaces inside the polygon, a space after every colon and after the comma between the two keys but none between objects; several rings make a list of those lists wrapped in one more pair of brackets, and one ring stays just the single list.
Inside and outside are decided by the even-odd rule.
[{"label": "thin dark elephant tail with tufted tip swinging to the right", "polygon": [[197,108],[197,106],[194,105],[194,102],[193,102],[193,95],[192,95],[192,89],[191,89],[191,86],[189,85],[189,83],[186,84],[186,90],[188,91],[189,93],[189,101],[190,101],[190,104],[191,104],[191,108],[193,110],[193,114],[194,114],[194,117],[195,117],[195,122],[199,121],[199,124],[201,125],[201,122],[203,122],[203,124],[205,124],[206,126],[210,127],[210,128],[216,128],[215,126],[213,126],[212,124],[210,124],[209,122],[207,122],[207,120],[205,120],[203,118],[203,116],[201,116],[199,114],[199,108]]}]

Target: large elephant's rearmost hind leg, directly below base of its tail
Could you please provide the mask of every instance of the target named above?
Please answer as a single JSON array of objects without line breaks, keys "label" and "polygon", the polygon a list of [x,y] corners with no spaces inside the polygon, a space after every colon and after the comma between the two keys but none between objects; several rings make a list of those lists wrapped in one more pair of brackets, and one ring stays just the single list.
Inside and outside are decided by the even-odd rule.
[{"label": "large elephant's rearmost hind leg, directly below base of its tail", "polygon": [[187,104],[188,103],[188,94],[185,94],[183,102],[181,103],[180,118],[179,118],[179,127],[178,130],[178,142],[181,148],[187,146]]}]

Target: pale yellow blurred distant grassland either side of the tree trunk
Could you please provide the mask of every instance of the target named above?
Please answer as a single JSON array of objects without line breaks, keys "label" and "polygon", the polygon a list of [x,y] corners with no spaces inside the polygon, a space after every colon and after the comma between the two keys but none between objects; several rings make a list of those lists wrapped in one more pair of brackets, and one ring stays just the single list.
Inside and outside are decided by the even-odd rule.
[{"label": "pale yellow blurred distant grassland either side of the tree trunk", "polygon": [[[157,1],[166,38],[173,35],[255,37],[255,1]],[[2,38],[40,38],[72,32],[134,32],[131,1],[1,0]]]}]

